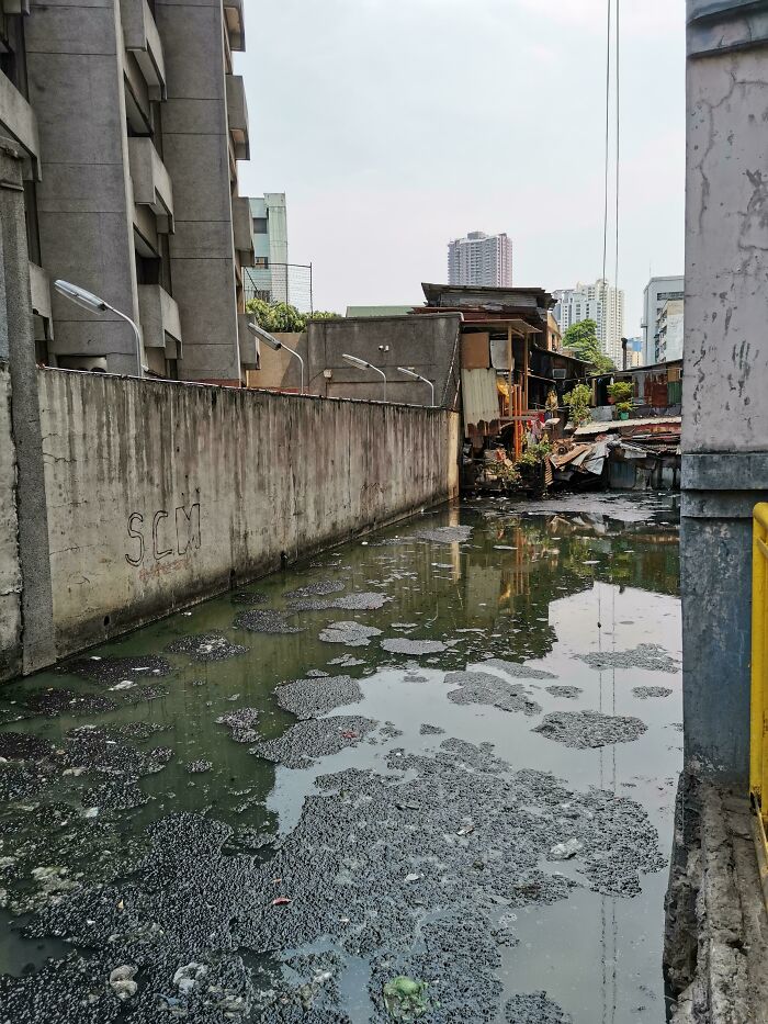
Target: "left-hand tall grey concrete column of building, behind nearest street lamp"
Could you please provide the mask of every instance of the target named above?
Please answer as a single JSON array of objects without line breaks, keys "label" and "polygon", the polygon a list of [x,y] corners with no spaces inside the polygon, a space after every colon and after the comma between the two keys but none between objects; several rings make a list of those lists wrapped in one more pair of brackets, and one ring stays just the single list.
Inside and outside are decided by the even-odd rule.
[{"label": "left-hand tall grey concrete column of building, behind nearest street lamp", "polygon": [[[25,20],[30,103],[37,115],[42,262],[50,280],[79,284],[138,320],[117,0],[33,0]],[[103,358],[136,373],[132,328],[53,296],[53,355]]]}]

